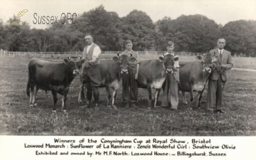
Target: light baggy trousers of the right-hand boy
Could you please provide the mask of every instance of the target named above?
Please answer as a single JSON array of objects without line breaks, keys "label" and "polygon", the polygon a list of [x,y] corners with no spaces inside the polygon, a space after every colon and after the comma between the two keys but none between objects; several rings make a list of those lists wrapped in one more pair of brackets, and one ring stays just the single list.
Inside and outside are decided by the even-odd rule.
[{"label": "light baggy trousers of the right-hand boy", "polygon": [[178,71],[174,72],[174,74],[168,74],[166,76],[166,82],[163,83],[163,100],[161,106],[169,106],[168,103],[168,94],[170,90],[170,101],[171,101],[171,109],[177,109],[179,103],[179,96],[178,96]]}]

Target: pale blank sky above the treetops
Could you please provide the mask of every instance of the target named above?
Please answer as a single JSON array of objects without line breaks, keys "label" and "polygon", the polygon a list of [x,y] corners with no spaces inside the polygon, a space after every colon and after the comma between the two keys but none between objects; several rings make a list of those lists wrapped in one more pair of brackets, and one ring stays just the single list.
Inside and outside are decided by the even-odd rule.
[{"label": "pale blank sky above the treetops", "polygon": [[19,11],[28,9],[20,21],[29,23],[31,28],[44,29],[46,24],[33,24],[35,13],[40,17],[58,16],[57,20],[60,20],[62,13],[79,16],[100,5],[106,11],[116,12],[119,17],[137,9],[145,12],[153,22],[165,16],[174,20],[182,14],[201,14],[223,26],[235,20],[256,20],[256,0],[0,0],[0,19],[4,23],[9,18],[14,21]]}]

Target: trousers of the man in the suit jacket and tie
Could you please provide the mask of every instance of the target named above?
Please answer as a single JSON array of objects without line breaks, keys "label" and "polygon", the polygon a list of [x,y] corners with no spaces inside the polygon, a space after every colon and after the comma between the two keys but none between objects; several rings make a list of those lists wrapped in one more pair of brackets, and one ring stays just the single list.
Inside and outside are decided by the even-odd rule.
[{"label": "trousers of the man in the suit jacket and tie", "polygon": [[222,92],[224,90],[225,83],[226,82],[221,78],[221,74],[218,80],[209,79],[207,91],[207,109],[211,109],[214,106],[215,97],[215,109],[222,108]]}]

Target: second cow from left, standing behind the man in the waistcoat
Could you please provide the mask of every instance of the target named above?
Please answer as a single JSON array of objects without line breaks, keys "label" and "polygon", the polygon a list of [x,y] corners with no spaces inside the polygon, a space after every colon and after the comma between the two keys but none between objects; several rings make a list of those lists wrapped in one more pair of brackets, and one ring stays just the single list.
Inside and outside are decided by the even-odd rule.
[{"label": "second cow from left, standing behind the man in the waistcoat", "polygon": [[[99,63],[99,70],[100,70],[100,75],[102,78],[102,83],[99,87],[103,88],[105,87],[107,94],[108,94],[108,102],[107,102],[107,107],[108,108],[116,108],[115,105],[115,98],[116,98],[116,92],[119,89],[120,86],[120,80],[122,78],[122,74],[128,74],[128,65],[129,61],[134,62],[136,60],[135,57],[132,57],[132,54],[125,55],[119,53],[117,54],[117,57],[113,57],[110,60],[100,60]],[[87,63],[86,61],[84,64]],[[84,65],[85,66],[85,65]],[[80,91],[79,91],[79,98],[78,102],[82,103],[82,98],[84,97],[84,85],[85,82],[82,79],[82,76],[80,78]],[[111,99],[111,92],[110,89],[113,89],[112,92],[112,103],[110,105],[110,99]]]}]

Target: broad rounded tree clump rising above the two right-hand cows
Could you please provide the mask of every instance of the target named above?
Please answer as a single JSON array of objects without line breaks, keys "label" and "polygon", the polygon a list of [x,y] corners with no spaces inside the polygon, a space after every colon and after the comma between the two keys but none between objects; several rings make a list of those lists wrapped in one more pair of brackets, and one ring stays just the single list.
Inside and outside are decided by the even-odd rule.
[{"label": "broad rounded tree clump rising above the two right-hand cows", "polygon": [[176,20],[164,18],[158,25],[166,40],[175,41],[176,51],[209,51],[220,35],[219,25],[199,14],[182,15]]}]

